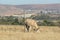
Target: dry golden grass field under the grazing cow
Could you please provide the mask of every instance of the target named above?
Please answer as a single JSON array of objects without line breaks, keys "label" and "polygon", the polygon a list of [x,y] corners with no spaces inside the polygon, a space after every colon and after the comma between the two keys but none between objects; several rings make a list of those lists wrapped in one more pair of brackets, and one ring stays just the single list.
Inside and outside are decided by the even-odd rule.
[{"label": "dry golden grass field under the grazing cow", "polygon": [[0,40],[60,40],[60,27],[39,27],[39,32],[24,32],[24,26],[0,25]]}]

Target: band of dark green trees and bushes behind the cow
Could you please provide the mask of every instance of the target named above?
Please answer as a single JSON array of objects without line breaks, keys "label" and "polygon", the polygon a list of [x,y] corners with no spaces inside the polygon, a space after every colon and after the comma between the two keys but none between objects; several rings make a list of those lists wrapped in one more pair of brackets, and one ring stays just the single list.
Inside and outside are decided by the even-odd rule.
[{"label": "band of dark green trees and bushes behind the cow", "polygon": [[[44,17],[44,18],[43,18]],[[53,22],[52,20],[48,20],[48,16],[31,16],[34,20],[43,20],[38,21],[37,24],[39,26],[60,26],[60,21]],[[24,17],[14,17],[14,16],[3,16],[0,17],[0,25],[24,25]]]}]

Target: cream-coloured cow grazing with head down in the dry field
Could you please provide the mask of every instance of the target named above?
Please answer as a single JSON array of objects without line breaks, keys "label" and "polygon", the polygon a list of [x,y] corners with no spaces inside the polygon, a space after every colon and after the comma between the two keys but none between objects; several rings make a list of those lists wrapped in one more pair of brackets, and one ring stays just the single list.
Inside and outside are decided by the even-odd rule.
[{"label": "cream-coloured cow grazing with head down in the dry field", "polygon": [[39,27],[37,26],[37,22],[33,19],[26,19],[25,26],[28,32],[30,31],[30,28],[33,29],[34,31],[37,31],[39,29]]}]

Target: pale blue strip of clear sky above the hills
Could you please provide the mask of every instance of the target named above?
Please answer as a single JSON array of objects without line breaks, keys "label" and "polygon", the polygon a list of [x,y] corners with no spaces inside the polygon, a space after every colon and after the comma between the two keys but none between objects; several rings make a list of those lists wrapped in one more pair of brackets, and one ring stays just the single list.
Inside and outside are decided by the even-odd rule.
[{"label": "pale blue strip of clear sky above the hills", "polygon": [[23,4],[56,4],[60,0],[0,0],[0,4],[23,5]]}]

